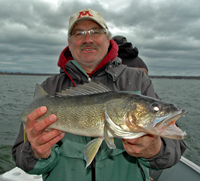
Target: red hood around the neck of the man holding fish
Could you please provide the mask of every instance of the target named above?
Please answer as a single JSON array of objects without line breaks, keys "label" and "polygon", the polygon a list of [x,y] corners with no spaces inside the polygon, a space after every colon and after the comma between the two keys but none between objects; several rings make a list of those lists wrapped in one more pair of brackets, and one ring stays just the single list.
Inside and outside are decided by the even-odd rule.
[{"label": "red hood around the neck of the man holding fish", "polygon": [[[117,55],[118,55],[118,45],[116,44],[116,42],[114,40],[110,40],[110,47],[108,49],[108,53],[107,55],[104,57],[104,59],[99,63],[99,65],[91,72],[91,74],[93,74],[94,72],[96,72],[98,69],[100,69],[101,67],[103,67],[104,65],[106,65],[109,61],[113,61]],[[69,50],[69,46],[67,46],[60,54],[59,60],[57,65],[62,68],[65,69],[65,65],[67,62],[69,62],[70,60],[74,60],[74,58],[72,57],[72,54]]]}]

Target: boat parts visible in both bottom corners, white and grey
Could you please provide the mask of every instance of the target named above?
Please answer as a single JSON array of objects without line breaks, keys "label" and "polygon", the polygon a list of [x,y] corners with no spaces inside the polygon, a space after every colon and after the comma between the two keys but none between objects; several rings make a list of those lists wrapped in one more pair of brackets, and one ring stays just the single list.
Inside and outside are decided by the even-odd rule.
[{"label": "boat parts visible in both bottom corners, white and grey", "polygon": [[[153,181],[200,181],[200,167],[185,157],[171,168],[150,171]],[[0,175],[0,181],[42,181],[41,175],[29,175],[18,167]]]}]

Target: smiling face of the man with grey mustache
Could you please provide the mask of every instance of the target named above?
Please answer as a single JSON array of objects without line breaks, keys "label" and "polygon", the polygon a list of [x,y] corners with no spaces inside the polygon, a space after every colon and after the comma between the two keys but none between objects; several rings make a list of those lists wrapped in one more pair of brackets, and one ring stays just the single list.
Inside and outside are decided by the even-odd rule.
[{"label": "smiling face of the man with grey mustache", "polygon": [[[76,30],[88,31],[91,29],[102,28],[94,21],[85,20],[75,25],[72,33]],[[78,62],[86,72],[90,73],[106,56],[110,40],[105,33],[97,37],[91,37],[89,33],[87,33],[85,37],[81,39],[77,39],[72,35],[68,43],[74,60]]]}]

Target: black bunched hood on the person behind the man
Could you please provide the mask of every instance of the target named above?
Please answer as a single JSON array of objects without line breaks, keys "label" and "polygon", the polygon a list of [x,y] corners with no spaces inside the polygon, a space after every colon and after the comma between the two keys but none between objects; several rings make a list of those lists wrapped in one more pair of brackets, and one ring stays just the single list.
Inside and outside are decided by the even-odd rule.
[{"label": "black bunched hood on the person behind the man", "polygon": [[133,48],[131,43],[124,43],[119,45],[118,54],[120,58],[135,58],[138,56],[139,51],[136,47]]}]

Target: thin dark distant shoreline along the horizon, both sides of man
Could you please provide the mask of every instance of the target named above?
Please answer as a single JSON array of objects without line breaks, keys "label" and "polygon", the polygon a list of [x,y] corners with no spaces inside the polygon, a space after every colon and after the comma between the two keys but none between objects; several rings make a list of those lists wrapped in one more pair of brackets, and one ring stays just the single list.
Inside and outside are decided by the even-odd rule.
[{"label": "thin dark distant shoreline along the horizon, both sides of man", "polygon": [[[0,75],[30,75],[30,76],[52,76],[55,73],[14,73],[14,72],[0,72]],[[149,75],[150,78],[155,79],[198,79],[200,76],[167,76],[167,75]]]}]

